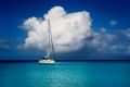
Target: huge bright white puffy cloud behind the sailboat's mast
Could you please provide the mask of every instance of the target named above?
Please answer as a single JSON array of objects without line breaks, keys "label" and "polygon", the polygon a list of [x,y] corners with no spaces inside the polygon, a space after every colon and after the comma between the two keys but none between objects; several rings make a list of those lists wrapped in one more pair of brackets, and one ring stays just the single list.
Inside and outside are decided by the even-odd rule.
[{"label": "huge bright white puffy cloud behind the sailboat's mast", "polygon": [[62,7],[54,7],[43,17],[29,17],[22,27],[28,32],[25,48],[44,50],[48,47],[48,18],[50,18],[54,49],[56,52],[76,51],[83,47],[91,34],[89,12],[67,13]]}]

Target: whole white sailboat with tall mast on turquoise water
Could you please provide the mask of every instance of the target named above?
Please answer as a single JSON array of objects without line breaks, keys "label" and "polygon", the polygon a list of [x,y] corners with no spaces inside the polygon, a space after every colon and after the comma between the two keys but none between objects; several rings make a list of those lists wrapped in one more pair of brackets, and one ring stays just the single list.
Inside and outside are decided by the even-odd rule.
[{"label": "whole white sailboat with tall mast on turquoise water", "polygon": [[42,64],[54,64],[55,53],[54,53],[54,47],[53,47],[53,40],[52,40],[50,20],[48,20],[48,35],[49,35],[48,53],[44,58],[40,59],[38,62]]}]

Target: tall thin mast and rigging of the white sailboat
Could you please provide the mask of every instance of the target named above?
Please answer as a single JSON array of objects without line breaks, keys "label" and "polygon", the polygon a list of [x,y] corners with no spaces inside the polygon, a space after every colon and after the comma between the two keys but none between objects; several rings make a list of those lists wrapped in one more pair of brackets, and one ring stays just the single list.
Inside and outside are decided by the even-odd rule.
[{"label": "tall thin mast and rigging of the white sailboat", "polygon": [[52,40],[52,33],[51,33],[51,24],[50,24],[50,20],[48,20],[48,26],[49,26],[49,49],[48,49],[48,59],[51,58],[51,52],[53,54],[53,59],[55,60],[55,53],[54,53],[54,46],[53,46],[53,40]]}]

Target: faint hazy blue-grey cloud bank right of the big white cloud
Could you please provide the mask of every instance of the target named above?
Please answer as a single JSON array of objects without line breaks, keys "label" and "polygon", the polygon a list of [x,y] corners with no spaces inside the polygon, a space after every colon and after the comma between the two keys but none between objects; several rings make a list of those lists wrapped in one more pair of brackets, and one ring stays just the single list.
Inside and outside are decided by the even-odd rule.
[{"label": "faint hazy blue-grey cloud bank right of the big white cloud", "polygon": [[91,37],[93,38],[87,40],[86,46],[98,53],[130,54],[129,28],[109,33],[101,27],[98,32],[92,30]]}]

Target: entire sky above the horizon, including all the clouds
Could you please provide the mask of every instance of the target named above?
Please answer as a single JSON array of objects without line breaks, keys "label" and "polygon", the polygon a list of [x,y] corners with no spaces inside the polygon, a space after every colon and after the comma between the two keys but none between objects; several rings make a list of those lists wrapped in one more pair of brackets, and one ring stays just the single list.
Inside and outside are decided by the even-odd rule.
[{"label": "entire sky above the horizon, including all the clouds", "polygon": [[1,0],[0,60],[130,60],[129,0]]}]

